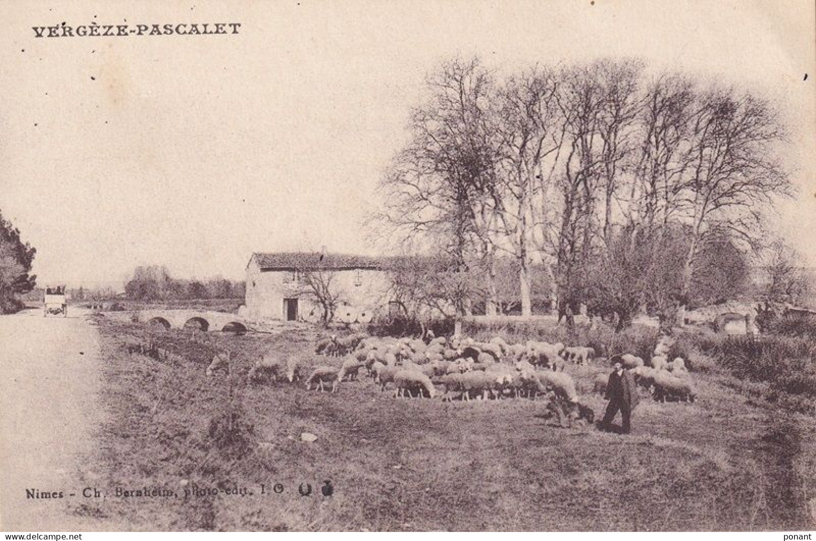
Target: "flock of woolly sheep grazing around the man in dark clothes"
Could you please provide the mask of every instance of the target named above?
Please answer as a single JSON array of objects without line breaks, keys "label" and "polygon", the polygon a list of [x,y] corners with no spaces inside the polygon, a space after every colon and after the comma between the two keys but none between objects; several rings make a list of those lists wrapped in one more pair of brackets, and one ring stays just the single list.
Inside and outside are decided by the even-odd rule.
[{"label": "flock of woolly sheep grazing around the man in dark clothes", "polygon": [[[685,361],[681,357],[671,362],[667,359],[671,346],[671,339],[662,337],[648,363],[631,354],[612,361],[619,360],[634,370],[637,383],[650,389],[656,400],[694,401]],[[574,419],[592,423],[592,409],[581,403],[575,380],[564,370],[567,363],[585,365],[592,361],[596,354],[593,348],[534,340],[508,344],[499,337],[479,342],[459,336],[422,340],[355,334],[322,339],[315,353],[343,360],[307,372],[293,357],[281,359],[268,353],[251,366],[247,383],[286,380],[294,384],[303,380],[309,390],[337,392],[344,380],[365,375],[380,390],[392,386],[395,397],[486,401],[544,396],[562,424]],[[228,359],[223,355],[213,358],[206,374],[214,375],[217,370],[228,370]],[[608,372],[596,375],[594,390],[604,392],[608,377]]]}]

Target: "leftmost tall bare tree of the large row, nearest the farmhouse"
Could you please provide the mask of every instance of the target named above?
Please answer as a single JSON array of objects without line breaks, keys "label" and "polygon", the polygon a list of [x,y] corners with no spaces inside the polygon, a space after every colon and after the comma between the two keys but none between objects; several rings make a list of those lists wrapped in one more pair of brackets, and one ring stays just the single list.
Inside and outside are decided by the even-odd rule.
[{"label": "leftmost tall bare tree of the large row, nearest the farmhouse", "polygon": [[[410,142],[389,167],[386,201],[375,223],[402,239],[439,246],[466,273],[472,258],[490,258],[494,184],[492,78],[477,59],[453,60],[428,78],[430,96],[410,117]],[[456,314],[468,297],[455,297]]]}]

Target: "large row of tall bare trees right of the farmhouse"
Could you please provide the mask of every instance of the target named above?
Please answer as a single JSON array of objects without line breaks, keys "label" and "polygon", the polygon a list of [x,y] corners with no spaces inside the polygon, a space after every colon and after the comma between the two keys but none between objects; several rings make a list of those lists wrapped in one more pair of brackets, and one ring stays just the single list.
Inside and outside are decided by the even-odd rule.
[{"label": "large row of tall bare trees right of the farmhouse", "polygon": [[495,312],[511,259],[524,315],[538,269],[561,312],[672,320],[744,282],[766,211],[792,193],[769,102],[638,60],[503,76],[452,60],[426,90],[372,225],[437,247],[457,314],[482,293]]}]

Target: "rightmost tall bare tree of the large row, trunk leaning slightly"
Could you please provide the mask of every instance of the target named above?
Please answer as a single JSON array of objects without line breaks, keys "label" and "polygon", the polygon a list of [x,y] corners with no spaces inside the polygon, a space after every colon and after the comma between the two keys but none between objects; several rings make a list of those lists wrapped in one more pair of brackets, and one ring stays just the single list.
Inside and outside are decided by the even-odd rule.
[{"label": "rightmost tall bare tree of the large row, trunk leaning slightly", "polygon": [[783,128],[765,100],[710,89],[698,95],[695,108],[681,198],[691,228],[681,291],[685,298],[705,242],[726,235],[755,244],[763,211],[774,197],[792,193],[776,153]]}]

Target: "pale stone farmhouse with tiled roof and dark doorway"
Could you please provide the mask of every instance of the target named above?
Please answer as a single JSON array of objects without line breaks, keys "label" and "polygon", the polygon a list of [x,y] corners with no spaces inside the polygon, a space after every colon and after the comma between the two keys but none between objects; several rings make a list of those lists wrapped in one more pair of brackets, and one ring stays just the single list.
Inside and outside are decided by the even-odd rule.
[{"label": "pale stone farmhouse with tiled roof and dark doorway", "polygon": [[368,322],[388,310],[385,258],[319,252],[255,253],[246,265],[242,315],[250,320],[319,321],[313,283],[339,295],[335,320]]}]

